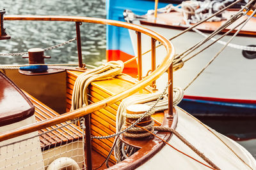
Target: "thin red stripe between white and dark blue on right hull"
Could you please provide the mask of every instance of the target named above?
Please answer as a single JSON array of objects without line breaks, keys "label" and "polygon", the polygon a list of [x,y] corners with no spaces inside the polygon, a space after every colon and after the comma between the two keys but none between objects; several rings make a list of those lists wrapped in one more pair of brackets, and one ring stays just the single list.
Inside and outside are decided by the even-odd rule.
[{"label": "thin red stripe between white and dark blue on right hull", "polygon": [[216,97],[184,96],[184,99],[195,99],[195,100],[202,100],[202,101],[219,101],[219,102],[228,102],[228,103],[256,104],[256,101],[253,101],[253,100],[223,99],[223,98],[216,98]]}]

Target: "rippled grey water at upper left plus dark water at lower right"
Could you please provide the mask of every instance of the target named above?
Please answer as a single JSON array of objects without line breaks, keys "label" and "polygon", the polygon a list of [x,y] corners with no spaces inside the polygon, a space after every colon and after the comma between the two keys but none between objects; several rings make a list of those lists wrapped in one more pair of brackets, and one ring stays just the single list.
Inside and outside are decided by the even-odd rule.
[{"label": "rippled grey water at upper left plus dark water at lower right", "polygon": [[[16,0],[0,1],[6,15],[74,15],[106,18],[104,0]],[[29,48],[47,48],[76,37],[74,22],[4,22],[12,41],[0,41],[0,53],[26,52]],[[106,26],[83,24],[81,26],[83,60],[100,65],[106,57]],[[77,63],[76,41],[45,52],[51,55],[47,63]],[[25,64],[21,56],[1,57],[0,64]],[[255,118],[199,118],[216,131],[236,139],[256,158]]]}]

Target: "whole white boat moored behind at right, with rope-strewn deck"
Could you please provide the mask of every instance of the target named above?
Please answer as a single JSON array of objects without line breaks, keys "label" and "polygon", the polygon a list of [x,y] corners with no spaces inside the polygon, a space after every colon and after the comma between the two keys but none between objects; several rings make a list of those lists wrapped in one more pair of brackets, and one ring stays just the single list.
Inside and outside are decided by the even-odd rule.
[{"label": "whole white boat moored behind at right, with rope-strewn deck", "polygon": [[[135,1],[133,4],[134,6],[138,5]],[[166,38],[172,38],[185,29],[188,29],[189,25],[184,20],[184,15],[186,16],[188,14],[183,15],[181,8],[179,8],[180,11],[170,12],[168,11],[167,7],[163,8],[163,4],[160,4],[160,8],[164,9],[165,11],[160,10],[161,13],[157,14],[156,20],[154,12],[148,15],[141,15],[138,13],[140,15],[130,15],[132,20],[131,22],[134,24],[143,25],[144,27],[152,29],[156,32],[160,32],[166,36]],[[134,8],[131,7],[127,9],[134,10]],[[134,13],[137,12],[136,10],[134,11]],[[223,20],[223,18],[230,18],[230,15],[234,15],[236,12],[237,10],[234,9],[226,10],[223,14],[221,14],[221,17],[217,19],[218,21],[204,22],[196,27],[196,31],[191,30],[185,34],[182,34],[178,38],[172,39],[177,53],[181,54],[182,52],[188,50],[191,46],[204,39],[207,35],[209,35],[209,32],[215,31],[218,29],[218,27],[220,27],[220,25],[223,25],[227,21]],[[214,11],[212,11],[212,13],[214,13]],[[134,16],[137,18],[134,18]],[[244,15],[243,17],[239,18],[239,20],[234,22],[234,25],[248,17],[248,15]],[[127,20],[129,20],[129,18],[127,18]],[[189,113],[192,113],[193,115],[200,116],[255,116],[255,90],[253,88],[255,81],[251,80],[250,75],[248,74],[255,73],[255,59],[253,59],[253,56],[255,56],[256,43],[254,36],[254,25],[255,18],[252,18],[243,27],[239,34],[237,34],[236,38],[234,38],[234,40],[231,42],[232,44],[220,53],[218,59],[214,60],[211,66],[207,67],[204,73],[202,73],[199,78],[189,86],[188,89],[186,89],[188,83],[193,80],[193,77],[195,77],[196,74],[205,66],[205,64],[207,64],[209,60],[214,57],[216,52],[220,50],[221,46],[225,45],[225,42],[231,38],[235,31],[230,32],[230,34],[221,39],[221,42],[219,41],[219,43],[215,43],[207,48],[204,52],[199,53],[196,55],[196,57],[193,57],[193,59],[189,59],[189,61],[184,64],[182,69],[175,72],[175,85],[186,89],[184,99],[179,106],[186,108],[186,110],[189,110]],[[222,34],[225,34],[225,32],[229,31],[231,28],[232,26],[228,26],[226,29],[223,29],[223,31],[218,34],[217,38],[219,38]],[[132,45],[134,47],[134,53],[136,54],[136,34],[130,31],[130,35]],[[142,42],[142,52],[147,52],[150,47],[150,41],[143,38]],[[120,47],[120,49],[122,48]],[[134,55],[134,53],[131,55]],[[191,53],[190,56],[194,55],[194,53]],[[150,55],[150,53],[148,53],[148,55]],[[158,62],[160,61],[161,59],[158,59]],[[147,74],[148,69],[148,67],[145,67],[143,74]],[[237,78],[239,78],[239,81],[237,81]],[[248,90],[245,90],[244,87],[246,87],[245,89]]]}]

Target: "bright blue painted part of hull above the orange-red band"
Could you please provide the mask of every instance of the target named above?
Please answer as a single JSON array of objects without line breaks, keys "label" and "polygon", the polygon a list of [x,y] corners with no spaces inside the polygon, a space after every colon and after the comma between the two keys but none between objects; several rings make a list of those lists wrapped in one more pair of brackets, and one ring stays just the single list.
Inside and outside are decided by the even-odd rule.
[{"label": "bright blue painted part of hull above the orange-red band", "polygon": [[[168,3],[159,3],[158,7],[163,8]],[[125,22],[123,12],[126,9],[134,11],[137,15],[144,15],[148,10],[154,9],[154,1],[145,0],[107,0],[107,19],[120,20]],[[129,32],[125,28],[107,25],[107,50],[120,50],[129,55],[134,55]]]}]

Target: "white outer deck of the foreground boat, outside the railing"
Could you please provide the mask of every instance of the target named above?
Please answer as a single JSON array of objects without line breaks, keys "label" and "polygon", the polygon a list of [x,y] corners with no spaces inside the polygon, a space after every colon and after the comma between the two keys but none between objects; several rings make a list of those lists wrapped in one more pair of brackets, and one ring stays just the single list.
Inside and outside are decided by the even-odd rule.
[{"label": "white outer deck of the foreground boat, outside the railing", "polygon": [[[180,108],[176,109],[179,118],[175,130],[188,140],[191,145],[195,146],[197,150],[204,153],[205,157],[211,160],[217,167],[220,169],[256,169],[255,159],[243,146],[202,124],[202,122],[196,120],[196,118]],[[207,162],[196,155],[176,136],[173,135],[168,143],[209,166]],[[166,145],[154,157],[138,167],[138,169],[209,168]]]}]

